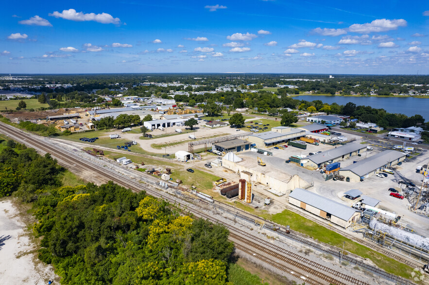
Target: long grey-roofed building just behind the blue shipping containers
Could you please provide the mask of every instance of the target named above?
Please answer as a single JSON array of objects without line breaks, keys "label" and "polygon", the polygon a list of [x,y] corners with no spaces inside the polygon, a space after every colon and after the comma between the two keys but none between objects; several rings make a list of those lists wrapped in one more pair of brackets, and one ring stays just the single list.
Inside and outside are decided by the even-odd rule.
[{"label": "long grey-roofed building just behind the blue shipping containers", "polygon": [[308,156],[301,160],[301,166],[319,168],[324,163],[332,163],[344,158],[356,156],[366,151],[366,145],[360,143],[347,143],[324,152]]}]

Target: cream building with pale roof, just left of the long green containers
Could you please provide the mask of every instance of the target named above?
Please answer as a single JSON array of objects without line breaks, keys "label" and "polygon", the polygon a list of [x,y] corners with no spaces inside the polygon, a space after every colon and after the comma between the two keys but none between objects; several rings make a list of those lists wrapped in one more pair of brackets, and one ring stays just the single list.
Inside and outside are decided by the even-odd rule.
[{"label": "cream building with pale roof, just left of the long green containers", "polygon": [[286,143],[305,136],[306,131],[303,129],[291,127],[273,127],[271,131],[263,133],[253,133],[249,135],[248,141],[255,143],[257,147],[269,147],[277,143]]}]

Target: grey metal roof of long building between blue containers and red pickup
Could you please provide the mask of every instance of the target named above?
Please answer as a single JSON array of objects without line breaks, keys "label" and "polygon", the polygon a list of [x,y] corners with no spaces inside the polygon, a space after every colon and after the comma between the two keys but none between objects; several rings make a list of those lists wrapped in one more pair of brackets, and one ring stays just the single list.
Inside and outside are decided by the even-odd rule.
[{"label": "grey metal roof of long building between blue containers and red pickup", "polygon": [[400,151],[396,151],[393,149],[388,149],[376,155],[373,155],[369,158],[365,158],[349,166],[346,166],[341,170],[349,170],[361,177],[370,172],[375,171],[376,169],[392,161],[395,161],[398,158],[403,158],[403,157],[405,157],[405,153],[402,153]]}]

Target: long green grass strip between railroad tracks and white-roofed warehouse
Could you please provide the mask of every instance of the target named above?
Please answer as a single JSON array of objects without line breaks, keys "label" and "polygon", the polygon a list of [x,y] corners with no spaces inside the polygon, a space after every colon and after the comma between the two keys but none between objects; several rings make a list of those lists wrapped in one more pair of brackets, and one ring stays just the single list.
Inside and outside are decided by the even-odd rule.
[{"label": "long green grass strip between railroad tracks and white-roofed warehouse", "polygon": [[263,217],[282,225],[290,225],[292,230],[296,230],[314,239],[331,244],[333,246],[337,246],[339,248],[343,247],[343,242],[345,241],[344,250],[360,255],[361,257],[371,259],[374,264],[386,272],[402,276],[407,279],[412,278],[412,268],[410,266],[402,264],[393,258],[389,258],[381,253],[373,251],[357,242],[352,241],[351,239],[344,238],[342,235],[332,230],[326,229],[324,226],[310,221],[297,213],[284,210],[283,212],[275,215],[264,214]]}]

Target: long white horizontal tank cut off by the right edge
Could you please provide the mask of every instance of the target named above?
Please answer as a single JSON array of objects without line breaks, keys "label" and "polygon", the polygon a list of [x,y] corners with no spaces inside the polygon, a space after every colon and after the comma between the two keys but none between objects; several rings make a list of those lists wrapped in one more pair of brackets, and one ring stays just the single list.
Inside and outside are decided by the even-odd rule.
[{"label": "long white horizontal tank cut off by the right edge", "polygon": [[369,223],[369,226],[374,229],[374,231],[381,231],[387,233],[392,238],[405,241],[409,244],[418,246],[422,249],[429,250],[429,238],[420,237],[416,234],[400,230],[398,228],[389,226],[385,223],[378,222],[377,220],[372,220]]}]

